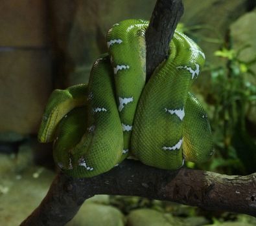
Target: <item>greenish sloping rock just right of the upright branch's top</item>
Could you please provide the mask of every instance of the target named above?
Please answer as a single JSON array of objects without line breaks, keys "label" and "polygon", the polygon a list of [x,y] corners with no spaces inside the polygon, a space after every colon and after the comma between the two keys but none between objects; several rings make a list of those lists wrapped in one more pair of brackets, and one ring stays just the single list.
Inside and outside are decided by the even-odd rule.
[{"label": "greenish sloping rock just right of the upright branch's top", "polygon": [[[185,0],[184,8],[181,21],[188,28],[198,26],[197,29],[189,31],[189,34],[204,50],[207,61],[223,65],[213,53],[224,42],[229,25],[248,10],[248,1]],[[218,16],[213,16],[215,14]]]}]

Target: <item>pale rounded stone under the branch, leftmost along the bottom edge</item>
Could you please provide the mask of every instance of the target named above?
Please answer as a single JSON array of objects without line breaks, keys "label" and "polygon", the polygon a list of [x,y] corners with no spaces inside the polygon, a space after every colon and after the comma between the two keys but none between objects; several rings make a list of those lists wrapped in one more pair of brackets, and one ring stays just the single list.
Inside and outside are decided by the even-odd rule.
[{"label": "pale rounded stone under the branch, leftmost along the bottom edge", "polygon": [[119,209],[108,205],[84,203],[67,226],[124,226],[124,216]]}]

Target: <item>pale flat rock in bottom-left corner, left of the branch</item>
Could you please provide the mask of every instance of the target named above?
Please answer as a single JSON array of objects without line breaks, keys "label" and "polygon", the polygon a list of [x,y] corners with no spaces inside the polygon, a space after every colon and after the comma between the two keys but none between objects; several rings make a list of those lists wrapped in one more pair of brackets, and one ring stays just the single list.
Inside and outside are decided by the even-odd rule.
[{"label": "pale flat rock in bottom-left corner, left of the branch", "polygon": [[17,154],[0,153],[0,225],[19,225],[41,203],[55,173],[34,165],[32,141]]}]

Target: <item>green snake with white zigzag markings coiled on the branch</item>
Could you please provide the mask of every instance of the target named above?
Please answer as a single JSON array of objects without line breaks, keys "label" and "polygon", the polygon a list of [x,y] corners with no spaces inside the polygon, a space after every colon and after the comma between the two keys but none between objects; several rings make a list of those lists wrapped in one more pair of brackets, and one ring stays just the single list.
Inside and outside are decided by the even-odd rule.
[{"label": "green snake with white zigzag markings coiled on the branch", "polygon": [[169,56],[145,84],[147,27],[141,19],[113,25],[88,85],[52,92],[38,139],[53,141],[54,161],[70,176],[102,174],[128,156],[176,170],[213,154],[207,114],[189,92],[204,53],[176,31]]}]

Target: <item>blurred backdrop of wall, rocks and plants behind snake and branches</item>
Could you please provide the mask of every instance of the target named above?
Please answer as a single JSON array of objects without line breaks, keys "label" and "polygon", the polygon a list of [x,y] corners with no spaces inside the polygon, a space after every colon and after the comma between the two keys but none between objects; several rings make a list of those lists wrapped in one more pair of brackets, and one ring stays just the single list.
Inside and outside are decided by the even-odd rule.
[{"label": "blurred backdrop of wall, rocks and plants behind snake and branches", "polygon": [[[54,88],[87,83],[105,36],[123,19],[150,19],[156,0],[1,0],[0,225],[19,225],[54,178],[51,144],[36,134]],[[215,154],[194,169],[256,172],[256,1],[184,0],[180,29],[206,65],[192,91],[209,114]],[[255,218],[137,197],[95,196],[68,225],[256,225]]]}]

